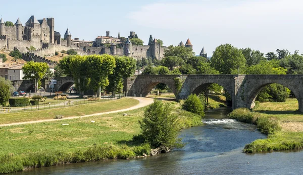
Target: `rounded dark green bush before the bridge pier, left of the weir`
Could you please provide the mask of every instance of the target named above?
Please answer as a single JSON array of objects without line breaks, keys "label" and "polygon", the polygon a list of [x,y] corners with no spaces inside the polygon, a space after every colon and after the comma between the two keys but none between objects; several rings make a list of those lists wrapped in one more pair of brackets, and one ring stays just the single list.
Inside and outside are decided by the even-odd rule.
[{"label": "rounded dark green bush before the bridge pier, left of the weir", "polygon": [[201,117],[205,116],[204,104],[195,94],[191,94],[187,97],[187,99],[184,101],[184,104],[182,105],[182,108],[183,110],[197,114]]}]

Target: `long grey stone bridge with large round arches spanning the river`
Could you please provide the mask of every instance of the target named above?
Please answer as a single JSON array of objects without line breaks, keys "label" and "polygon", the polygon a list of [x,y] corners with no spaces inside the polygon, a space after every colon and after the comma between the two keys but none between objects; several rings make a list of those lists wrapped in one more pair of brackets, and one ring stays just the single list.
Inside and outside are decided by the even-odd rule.
[{"label": "long grey stone bridge with large round arches spanning the river", "polygon": [[[180,89],[176,88],[176,78],[182,82]],[[124,92],[127,96],[145,97],[159,83],[168,85],[177,99],[199,94],[209,84],[217,83],[231,96],[233,109],[253,108],[264,86],[278,83],[294,93],[299,111],[303,112],[303,75],[137,75],[125,80]]]}]

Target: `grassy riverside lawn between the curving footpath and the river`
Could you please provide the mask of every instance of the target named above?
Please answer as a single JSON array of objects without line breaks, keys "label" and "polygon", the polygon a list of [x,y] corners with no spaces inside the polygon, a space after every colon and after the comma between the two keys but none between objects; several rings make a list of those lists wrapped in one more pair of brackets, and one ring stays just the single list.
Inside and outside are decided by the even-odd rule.
[{"label": "grassy riverside lawn between the curving footpath and the river", "polygon": [[[202,124],[198,115],[181,110],[179,129]],[[133,141],[141,133],[138,120],[147,107],[123,113],[0,128],[0,173],[64,163],[132,158],[149,154],[150,145]],[[90,121],[95,121],[91,123]],[[22,146],[20,146],[22,145]]]}]

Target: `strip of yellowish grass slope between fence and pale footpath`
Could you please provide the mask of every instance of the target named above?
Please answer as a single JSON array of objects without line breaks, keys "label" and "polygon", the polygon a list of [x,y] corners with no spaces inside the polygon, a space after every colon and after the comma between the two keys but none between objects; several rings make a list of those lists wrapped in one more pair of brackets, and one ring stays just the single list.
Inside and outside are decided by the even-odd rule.
[{"label": "strip of yellowish grass slope between fence and pale footpath", "polygon": [[0,124],[53,119],[55,118],[55,115],[64,115],[64,117],[82,116],[125,109],[135,106],[138,103],[139,101],[135,99],[123,98],[117,101],[96,102],[92,104],[77,105],[68,108],[0,114]]}]

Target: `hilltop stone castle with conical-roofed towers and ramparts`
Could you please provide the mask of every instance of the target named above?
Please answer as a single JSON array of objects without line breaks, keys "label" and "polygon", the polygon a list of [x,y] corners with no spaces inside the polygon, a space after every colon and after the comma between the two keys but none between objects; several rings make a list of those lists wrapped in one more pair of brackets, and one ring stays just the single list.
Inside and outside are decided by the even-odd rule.
[{"label": "hilltop stone castle with conical-roofed towers and ramparts", "polygon": [[[124,43],[120,40],[120,32],[116,38],[110,36],[110,32],[107,31],[106,36],[98,36],[94,41],[79,41],[79,38],[72,39],[69,29],[66,30],[64,38],[61,38],[60,32],[55,31],[54,18],[37,20],[31,16],[25,26],[19,18],[14,26],[5,26],[4,20],[0,20],[0,49],[18,49],[22,53],[28,52],[26,55],[36,55],[41,58],[52,56],[56,51],[69,49],[76,50],[79,55],[111,54],[126,55],[136,59],[151,57],[158,60],[163,58],[164,50],[167,47],[161,46],[157,39],[154,39],[149,45],[134,45],[130,38],[135,35],[135,32],[130,32],[130,36]],[[30,50],[31,46],[37,50]],[[185,44],[181,42],[178,46],[192,48],[189,39]],[[204,48],[200,56],[207,57]]]}]

